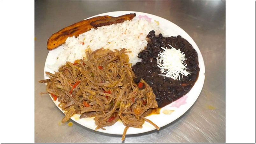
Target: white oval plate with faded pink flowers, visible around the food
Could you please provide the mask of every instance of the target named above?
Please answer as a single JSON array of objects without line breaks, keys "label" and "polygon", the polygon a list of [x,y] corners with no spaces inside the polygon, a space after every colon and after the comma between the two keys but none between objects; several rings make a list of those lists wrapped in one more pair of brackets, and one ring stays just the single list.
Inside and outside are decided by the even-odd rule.
[{"label": "white oval plate with faded pink flowers, visible around the food", "polygon": [[[130,13],[136,13],[136,17],[134,17],[135,19],[139,19],[138,17],[140,15],[141,16],[146,15],[149,18],[152,18],[152,20],[151,20],[152,22],[154,20],[159,21],[160,27],[161,27],[161,29],[164,30],[165,35],[168,35],[168,36],[180,35],[180,36],[182,36],[189,43],[192,44],[193,48],[196,49],[196,51],[198,53],[200,72],[199,72],[199,77],[198,77],[194,87],[189,91],[189,93],[187,95],[185,95],[182,98],[180,98],[179,100],[174,101],[173,103],[161,108],[159,115],[150,115],[150,116],[146,117],[147,119],[149,119],[153,123],[155,123],[157,126],[159,126],[161,129],[161,127],[173,122],[174,120],[179,118],[181,115],[183,115],[194,104],[194,102],[198,98],[198,96],[203,88],[204,77],[205,77],[205,75],[204,75],[205,68],[204,68],[203,57],[202,57],[202,54],[201,54],[199,48],[197,47],[196,43],[183,29],[181,29],[179,26],[175,25],[174,23],[172,23],[164,18],[161,18],[159,16],[154,16],[151,14],[135,12],[135,11],[115,11],[115,12],[99,14],[96,16],[103,16],[103,15],[120,16],[120,15],[130,14]],[[94,17],[94,16],[92,16],[92,17]],[[89,18],[91,18],[91,17],[89,17]],[[61,50],[62,49],[58,48],[58,49],[49,51],[48,56],[46,58],[46,63],[45,63],[45,69],[44,69],[45,72],[48,71],[48,72],[54,73],[54,71],[49,69],[48,67],[46,67],[46,65],[53,64],[53,62],[56,60],[56,57],[61,52]],[[44,75],[44,77],[45,77],[45,79],[48,79],[48,77],[46,75]],[[59,102],[58,101],[53,101],[53,102],[58,107]],[[61,108],[59,108],[59,109],[61,110]],[[173,111],[173,112],[171,114],[164,114],[164,112],[170,112],[170,111]],[[64,111],[62,111],[62,112],[64,112]],[[95,130],[95,128],[97,126],[95,125],[95,121],[93,120],[93,118],[79,119],[79,116],[80,115],[74,115],[71,117],[71,119],[74,120],[75,122],[81,124],[82,126],[85,126],[87,128]],[[117,121],[114,125],[112,125],[110,127],[105,127],[105,128],[106,128],[106,130],[98,129],[97,131],[103,132],[103,133],[108,133],[108,134],[123,134],[125,126],[123,125],[123,123],[121,121]],[[148,122],[145,122],[143,124],[143,128],[129,128],[127,130],[126,134],[145,133],[148,131],[152,131],[154,129],[155,129],[154,126],[152,126]]]}]

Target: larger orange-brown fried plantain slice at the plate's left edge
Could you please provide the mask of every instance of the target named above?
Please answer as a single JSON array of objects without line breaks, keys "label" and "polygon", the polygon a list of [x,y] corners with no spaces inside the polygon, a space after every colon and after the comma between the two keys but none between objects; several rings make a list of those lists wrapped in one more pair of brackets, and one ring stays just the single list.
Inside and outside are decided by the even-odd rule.
[{"label": "larger orange-brown fried plantain slice at the plate's left edge", "polygon": [[78,23],[74,23],[68,27],[61,29],[60,31],[54,33],[47,41],[47,49],[52,50],[58,47],[59,45],[65,43],[68,36],[79,36],[80,34],[89,31],[93,28],[90,25],[91,22],[97,20],[104,20],[107,18],[111,18],[112,16],[96,16],[87,20],[82,20]]}]

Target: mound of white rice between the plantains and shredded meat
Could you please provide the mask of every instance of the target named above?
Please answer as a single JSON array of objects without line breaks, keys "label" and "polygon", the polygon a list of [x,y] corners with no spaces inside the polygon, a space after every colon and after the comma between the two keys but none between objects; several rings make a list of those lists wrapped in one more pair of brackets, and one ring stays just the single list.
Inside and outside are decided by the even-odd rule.
[{"label": "mound of white rice between the plantains and shredded meat", "polygon": [[138,53],[146,47],[146,36],[151,30],[154,30],[156,35],[162,32],[155,21],[150,23],[142,18],[91,29],[76,38],[75,36],[68,37],[66,43],[62,45],[63,52],[59,53],[53,65],[47,67],[58,71],[58,68],[66,61],[74,62],[84,57],[85,49],[91,48],[94,51],[102,47],[111,50],[127,49],[130,51],[127,53],[130,63],[134,65],[140,61],[137,57]]}]

